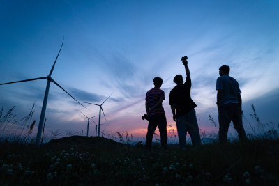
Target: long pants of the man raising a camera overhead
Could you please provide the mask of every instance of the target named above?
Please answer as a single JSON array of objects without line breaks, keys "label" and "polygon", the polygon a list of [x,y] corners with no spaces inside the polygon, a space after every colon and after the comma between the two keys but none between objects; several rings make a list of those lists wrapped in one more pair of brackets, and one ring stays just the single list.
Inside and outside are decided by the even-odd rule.
[{"label": "long pants of the man raising a camera overhead", "polygon": [[189,111],[183,116],[177,117],[176,127],[177,133],[179,134],[179,147],[181,149],[186,148],[187,132],[191,137],[193,146],[197,147],[201,144],[195,109]]}]

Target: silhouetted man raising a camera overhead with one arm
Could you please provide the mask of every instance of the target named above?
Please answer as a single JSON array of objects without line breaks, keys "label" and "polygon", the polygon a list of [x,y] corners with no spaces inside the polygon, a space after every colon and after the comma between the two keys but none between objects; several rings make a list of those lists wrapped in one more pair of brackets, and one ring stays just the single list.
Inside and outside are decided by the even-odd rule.
[{"label": "silhouetted man raising a camera overhead with one arm", "polygon": [[188,68],[187,57],[181,58],[186,70],[186,82],[183,84],[182,75],[174,77],[176,86],[169,93],[169,104],[172,108],[173,119],[176,121],[177,133],[179,134],[179,146],[186,148],[186,134],[190,134],[193,146],[199,146],[201,139],[199,136],[199,127],[195,107],[197,105],[191,99],[191,78]]}]

